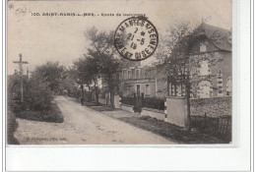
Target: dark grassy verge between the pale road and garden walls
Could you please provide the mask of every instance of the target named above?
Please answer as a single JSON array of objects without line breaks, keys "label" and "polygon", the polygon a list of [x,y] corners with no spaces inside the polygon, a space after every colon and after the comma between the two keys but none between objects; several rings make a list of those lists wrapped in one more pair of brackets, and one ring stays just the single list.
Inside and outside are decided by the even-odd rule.
[{"label": "dark grassy verge between the pale road and garden walls", "polygon": [[160,135],[169,141],[177,143],[227,143],[224,139],[216,138],[213,135],[200,133],[197,130],[187,132],[176,125],[166,123],[162,120],[149,116],[141,116],[122,109],[111,110],[108,106],[90,106],[90,108],[101,113],[125,122],[137,128]]}]

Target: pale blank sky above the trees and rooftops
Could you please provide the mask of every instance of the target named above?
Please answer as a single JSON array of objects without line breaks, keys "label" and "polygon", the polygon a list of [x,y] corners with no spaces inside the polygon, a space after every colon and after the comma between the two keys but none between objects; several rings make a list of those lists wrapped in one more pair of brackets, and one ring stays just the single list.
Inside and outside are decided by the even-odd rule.
[{"label": "pale blank sky above the trees and rooftops", "polygon": [[[18,70],[13,61],[23,54],[30,71],[47,61],[70,66],[90,46],[85,31],[115,30],[127,16],[102,14],[146,14],[160,35],[176,21],[190,21],[231,29],[231,0],[70,0],[9,1],[7,25],[8,75]],[[40,16],[32,16],[39,13]],[[94,13],[96,17],[42,16],[42,13]],[[152,62],[148,58],[143,64]]]}]

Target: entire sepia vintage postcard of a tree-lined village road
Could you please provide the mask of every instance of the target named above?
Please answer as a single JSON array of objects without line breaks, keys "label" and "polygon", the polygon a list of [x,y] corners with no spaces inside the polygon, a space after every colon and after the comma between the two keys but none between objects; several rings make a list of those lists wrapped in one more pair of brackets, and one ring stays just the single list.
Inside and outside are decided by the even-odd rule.
[{"label": "entire sepia vintage postcard of a tree-lined village road", "polygon": [[9,0],[12,144],[230,144],[231,0]]}]

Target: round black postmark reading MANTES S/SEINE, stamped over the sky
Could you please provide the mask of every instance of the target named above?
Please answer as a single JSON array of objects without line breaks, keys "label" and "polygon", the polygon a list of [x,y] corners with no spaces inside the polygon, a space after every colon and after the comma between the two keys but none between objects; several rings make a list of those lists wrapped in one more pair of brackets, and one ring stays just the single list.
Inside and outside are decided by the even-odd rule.
[{"label": "round black postmark reading MANTES S/SEINE, stamped over the sky", "polygon": [[154,54],[159,43],[156,27],[145,17],[132,17],[115,30],[114,45],[118,53],[132,61],[141,61]]}]

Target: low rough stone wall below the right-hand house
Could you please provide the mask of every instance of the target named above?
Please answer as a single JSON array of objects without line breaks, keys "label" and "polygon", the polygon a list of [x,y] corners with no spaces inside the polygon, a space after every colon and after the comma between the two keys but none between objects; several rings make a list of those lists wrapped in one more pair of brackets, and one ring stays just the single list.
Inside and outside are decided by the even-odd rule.
[{"label": "low rough stone wall below the right-hand house", "polygon": [[207,116],[213,118],[231,116],[231,101],[231,96],[191,99],[191,116]]}]

